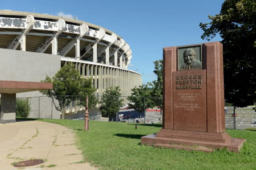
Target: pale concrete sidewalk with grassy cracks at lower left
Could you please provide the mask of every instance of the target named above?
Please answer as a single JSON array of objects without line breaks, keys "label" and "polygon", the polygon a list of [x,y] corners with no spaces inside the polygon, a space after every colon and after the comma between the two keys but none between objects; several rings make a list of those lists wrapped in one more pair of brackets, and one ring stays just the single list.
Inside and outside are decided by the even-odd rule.
[{"label": "pale concrete sidewalk with grassy cracks at lower left", "polygon": [[[97,170],[83,160],[73,130],[59,124],[20,121],[0,124],[0,170],[17,170],[13,162],[43,159],[24,170]],[[54,167],[47,167],[55,165]]]}]

